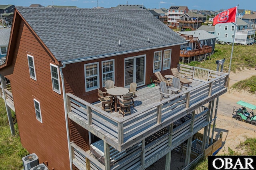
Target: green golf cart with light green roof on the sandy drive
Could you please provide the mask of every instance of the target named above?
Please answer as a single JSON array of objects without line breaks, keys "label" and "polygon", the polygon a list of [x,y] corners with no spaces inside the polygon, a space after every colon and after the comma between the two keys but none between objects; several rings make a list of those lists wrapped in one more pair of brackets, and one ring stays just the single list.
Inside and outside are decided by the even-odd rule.
[{"label": "green golf cart with light green roof on the sandy drive", "polygon": [[[233,117],[236,118],[236,120],[245,121],[247,123],[251,123],[252,125],[256,125],[256,115],[253,113],[253,110],[256,109],[256,106],[242,100],[236,103],[241,105],[241,107],[236,109],[236,106],[234,106]],[[252,109],[252,111],[248,112],[247,109]]]}]

